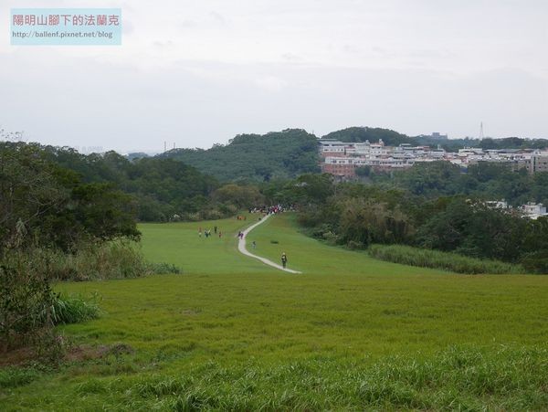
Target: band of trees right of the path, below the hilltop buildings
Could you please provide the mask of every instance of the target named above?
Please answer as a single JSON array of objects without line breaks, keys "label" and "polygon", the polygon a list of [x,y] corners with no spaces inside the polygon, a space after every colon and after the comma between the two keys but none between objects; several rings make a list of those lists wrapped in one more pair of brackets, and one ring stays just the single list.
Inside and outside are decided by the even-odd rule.
[{"label": "band of trees right of the path, below the hilltop buildings", "polygon": [[522,218],[490,208],[477,197],[337,184],[328,174],[302,175],[265,190],[279,201],[297,203],[300,224],[311,236],[332,244],[350,248],[408,245],[548,272],[548,218]]}]

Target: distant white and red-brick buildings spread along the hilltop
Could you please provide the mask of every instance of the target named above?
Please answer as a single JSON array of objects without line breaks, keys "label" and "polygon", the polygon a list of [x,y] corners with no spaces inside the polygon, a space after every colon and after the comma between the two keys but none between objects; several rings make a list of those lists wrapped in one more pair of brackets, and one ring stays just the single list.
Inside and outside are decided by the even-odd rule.
[{"label": "distant white and red-brick buildings spread along the hilltop", "polygon": [[[447,139],[447,135],[432,133],[432,138]],[[465,147],[458,153],[446,152],[439,145],[412,146],[402,143],[399,146],[386,146],[378,143],[345,143],[336,140],[320,140],[321,171],[341,178],[356,175],[359,167],[370,167],[374,171],[403,170],[421,162],[446,161],[466,168],[469,164],[492,162],[509,164],[514,170],[524,168],[530,174],[548,172],[548,152],[533,149],[484,150]]]}]

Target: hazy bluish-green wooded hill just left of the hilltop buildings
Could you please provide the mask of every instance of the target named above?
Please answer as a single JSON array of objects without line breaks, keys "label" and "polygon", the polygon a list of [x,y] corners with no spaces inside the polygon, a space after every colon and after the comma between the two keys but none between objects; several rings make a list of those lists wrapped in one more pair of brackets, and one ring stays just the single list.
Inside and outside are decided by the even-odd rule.
[{"label": "hazy bluish-green wooded hill just left of the hilltop buildings", "polygon": [[227,145],[211,149],[175,149],[160,156],[190,164],[227,181],[269,181],[319,172],[316,137],[304,130],[238,134]]}]

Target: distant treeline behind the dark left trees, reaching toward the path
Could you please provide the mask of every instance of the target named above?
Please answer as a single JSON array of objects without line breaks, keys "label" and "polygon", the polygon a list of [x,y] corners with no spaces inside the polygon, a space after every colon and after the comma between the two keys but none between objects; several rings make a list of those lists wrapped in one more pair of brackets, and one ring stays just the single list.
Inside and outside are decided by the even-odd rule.
[{"label": "distant treeline behind the dark left trees, reaching toward the path", "polygon": [[[5,150],[16,153],[35,153],[49,167],[63,171],[58,174],[67,174],[68,180],[88,185],[90,192],[115,193],[106,196],[112,202],[117,201],[117,196],[127,196],[133,218],[140,221],[221,218],[235,215],[242,207],[264,202],[257,186],[221,185],[215,177],[172,158],[147,157],[131,161],[115,152],[85,155],[65,147],[1,144]],[[102,197],[95,192],[82,196]]]}]

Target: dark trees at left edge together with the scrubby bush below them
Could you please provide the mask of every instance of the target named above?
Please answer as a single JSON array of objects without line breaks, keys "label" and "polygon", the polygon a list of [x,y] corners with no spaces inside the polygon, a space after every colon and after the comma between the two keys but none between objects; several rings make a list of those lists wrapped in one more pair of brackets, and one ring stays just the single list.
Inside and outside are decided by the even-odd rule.
[{"label": "dark trees at left edge together with the scrubby bush below them", "polygon": [[52,256],[140,237],[131,196],[86,183],[37,144],[0,143],[0,349],[52,350]]}]

